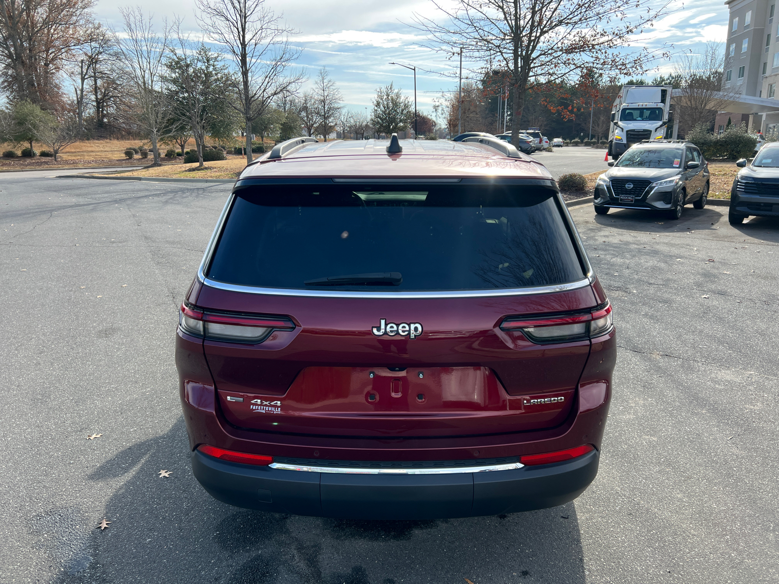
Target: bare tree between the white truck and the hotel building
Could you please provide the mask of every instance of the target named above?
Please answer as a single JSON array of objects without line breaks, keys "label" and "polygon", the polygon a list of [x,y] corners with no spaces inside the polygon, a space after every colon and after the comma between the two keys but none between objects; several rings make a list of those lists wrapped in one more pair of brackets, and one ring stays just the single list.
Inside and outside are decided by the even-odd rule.
[{"label": "bare tree between the white truck and the hotel building", "polygon": [[686,53],[676,62],[673,75],[679,79],[675,97],[675,118],[682,135],[696,125],[714,123],[717,111],[725,108],[735,91],[722,86],[722,75],[731,58],[725,58],[724,44],[709,42],[702,53]]}]

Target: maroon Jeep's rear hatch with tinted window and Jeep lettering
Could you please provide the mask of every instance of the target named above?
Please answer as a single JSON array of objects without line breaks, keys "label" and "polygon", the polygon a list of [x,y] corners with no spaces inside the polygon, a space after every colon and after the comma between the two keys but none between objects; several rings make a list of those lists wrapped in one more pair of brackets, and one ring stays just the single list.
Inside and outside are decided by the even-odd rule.
[{"label": "maroon Jeep's rear hatch with tinted window and Jeep lettering", "polygon": [[561,424],[590,340],[560,323],[595,299],[552,186],[328,183],[228,204],[189,307],[227,422],[374,438]]}]

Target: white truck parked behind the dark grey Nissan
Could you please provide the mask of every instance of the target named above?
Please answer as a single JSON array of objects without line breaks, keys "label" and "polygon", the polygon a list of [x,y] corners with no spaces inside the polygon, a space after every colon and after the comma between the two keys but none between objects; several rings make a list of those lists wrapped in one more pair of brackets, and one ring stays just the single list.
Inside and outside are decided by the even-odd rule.
[{"label": "white truck parked behind the dark grey Nissan", "polygon": [[624,85],[612,106],[608,154],[616,160],[633,144],[665,137],[671,109],[670,85]]}]

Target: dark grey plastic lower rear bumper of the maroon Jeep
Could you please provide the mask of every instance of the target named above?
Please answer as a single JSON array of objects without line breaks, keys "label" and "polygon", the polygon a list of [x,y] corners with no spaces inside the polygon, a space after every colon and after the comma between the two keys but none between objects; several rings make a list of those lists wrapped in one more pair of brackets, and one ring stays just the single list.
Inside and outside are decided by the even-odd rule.
[{"label": "dark grey plastic lower rear bumper of the maroon Jeep", "polygon": [[599,459],[594,450],[514,470],[385,475],[272,469],[196,450],[192,469],[213,498],[237,507],[342,519],[445,519],[563,505],[594,480]]}]

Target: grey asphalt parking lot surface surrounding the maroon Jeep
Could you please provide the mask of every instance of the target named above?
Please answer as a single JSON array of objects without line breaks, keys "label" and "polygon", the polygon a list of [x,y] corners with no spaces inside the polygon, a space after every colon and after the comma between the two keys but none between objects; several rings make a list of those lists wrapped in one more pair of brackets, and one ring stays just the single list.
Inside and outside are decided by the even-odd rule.
[{"label": "grey asphalt parking lot surface surrounding the maroon Jeep", "polygon": [[190,471],[173,336],[229,188],[0,176],[0,581],[779,581],[779,220],[572,209],[619,330],[594,484],[336,521],[228,507]]}]

